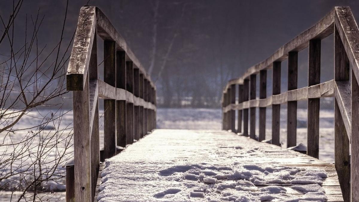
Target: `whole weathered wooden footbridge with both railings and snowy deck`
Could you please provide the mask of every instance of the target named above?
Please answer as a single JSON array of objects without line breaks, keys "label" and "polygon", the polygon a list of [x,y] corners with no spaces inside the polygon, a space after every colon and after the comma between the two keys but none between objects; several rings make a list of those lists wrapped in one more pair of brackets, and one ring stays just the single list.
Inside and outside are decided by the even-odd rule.
[{"label": "whole weathered wooden footbridge with both railings and snowy deck", "polygon": [[[321,40],[332,33],[335,44],[334,80],[320,83]],[[98,79],[97,35],[104,41],[104,81]],[[350,8],[335,7],[313,27],[280,47],[263,62],[249,68],[242,77],[228,82],[222,99],[223,130],[232,132],[153,130],[156,126],[156,88],[149,75],[101,10],[92,6],[82,7],[67,71],[67,89],[73,91],[74,96],[74,163],[66,165],[66,201],[187,201],[188,197],[191,201],[204,201],[204,198],[209,200],[206,196],[210,194],[208,190],[218,188],[219,185],[213,185],[217,180],[221,183],[238,180],[229,178],[228,173],[221,173],[218,167],[228,168],[234,173],[238,173],[235,169],[256,170],[259,172],[256,175],[261,175],[266,171],[264,165],[273,165],[287,166],[284,169],[294,169],[297,173],[305,172],[308,167],[323,170],[326,175],[322,175],[322,181],[317,183],[325,192],[323,200],[358,202],[358,40],[359,29]],[[297,88],[298,52],[306,47],[309,47],[308,87]],[[286,59],[288,91],[281,92],[281,61]],[[273,83],[272,96],[269,97],[266,85],[268,69],[272,69]],[[257,74],[260,79],[259,98],[256,97]],[[318,160],[319,106],[322,97],[335,97],[334,165]],[[99,98],[104,99],[105,111],[103,151],[99,150]],[[307,154],[279,147],[281,104],[287,104],[288,109],[286,146],[297,144],[298,100],[308,100]],[[266,139],[266,107],[272,108],[271,144],[260,142]],[[144,137],[149,132],[152,133]],[[128,146],[134,140],[139,141]],[[125,152],[121,152],[126,146]],[[244,155],[241,151],[255,154]],[[223,153],[229,155],[223,157]],[[100,161],[108,158],[111,159],[106,161],[104,168],[107,171],[101,175],[104,166],[100,166]],[[207,164],[213,164],[210,167],[217,169],[208,171],[210,167],[203,167]],[[189,165],[192,167],[188,169],[181,167]],[[172,172],[171,166],[179,166],[181,169],[174,169]],[[196,171],[198,176],[187,172],[199,167],[207,169],[206,172],[212,174],[212,177],[205,176],[200,171]],[[272,172],[275,173],[275,170]],[[157,176],[157,181],[151,181],[145,176],[147,173]],[[268,173],[267,171],[265,174]],[[180,176],[178,180],[168,178],[175,174]],[[104,175],[106,182],[101,181],[101,176]],[[126,178],[127,175],[134,178]],[[291,178],[295,179],[295,175]],[[111,181],[111,176],[115,180]],[[197,183],[206,188],[168,189],[172,186],[186,187],[183,183],[193,180],[191,178],[197,180],[191,184]],[[134,182],[133,179],[139,181]],[[282,192],[278,192],[281,197],[284,194],[284,198],[306,200],[301,198],[306,194],[293,187],[298,181],[250,182],[253,184],[251,193],[262,188],[269,190],[276,185],[283,188]],[[104,188],[99,187],[101,183],[104,183],[101,185]],[[150,183],[152,185],[148,186]],[[241,186],[244,185],[238,186],[238,189],[242,189]],[[101,192],[99,189],[102,189]],[[157,192],[159,190],[162,192]],[[151,197],[149,193],[152,194]],[[218,189],[213,193],[220,195],[222,190]]]}]

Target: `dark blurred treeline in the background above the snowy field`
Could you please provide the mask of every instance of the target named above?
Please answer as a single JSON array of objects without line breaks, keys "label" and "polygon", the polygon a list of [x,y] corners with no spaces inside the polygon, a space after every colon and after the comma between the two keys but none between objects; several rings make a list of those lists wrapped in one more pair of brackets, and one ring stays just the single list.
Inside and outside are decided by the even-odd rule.
[{"label": "dark blurred treeline in the background above the snowy field", "polygon": [[[159,107],[219,107],[228,79],[269,57],[333,6],[351,6],[359,19],[358,1],[349,0],[79,0],[69,1],[64,40],[71,41],[79,9],[87,3],[102,9],[151,73]],[[11,7],[12,1],[1,1],[0,12]],[[39,46],[52,45],[65,7],[65,0],[25,1],[18,25],[39,12],[45,16]],[[16,33],[21,37],[21,31]],[[333,48],[332,37],[323,40],[322,81],[333,78]],[[307,54],[299,54],[298,87],[307,85]],[[102,61],[101,52],[98,57]],[[285,90],[286,62],[282,67]]]}]

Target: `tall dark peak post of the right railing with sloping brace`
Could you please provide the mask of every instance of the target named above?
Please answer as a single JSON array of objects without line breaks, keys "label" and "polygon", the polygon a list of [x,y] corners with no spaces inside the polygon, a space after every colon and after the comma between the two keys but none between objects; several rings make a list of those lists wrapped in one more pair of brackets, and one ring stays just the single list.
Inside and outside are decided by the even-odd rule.
[{"label": "tall dark peak post of the right railing with sloping brace", "polygon": [[334,29],[335,169],[344,201],[350,201],[350,66],[337,26]]}]

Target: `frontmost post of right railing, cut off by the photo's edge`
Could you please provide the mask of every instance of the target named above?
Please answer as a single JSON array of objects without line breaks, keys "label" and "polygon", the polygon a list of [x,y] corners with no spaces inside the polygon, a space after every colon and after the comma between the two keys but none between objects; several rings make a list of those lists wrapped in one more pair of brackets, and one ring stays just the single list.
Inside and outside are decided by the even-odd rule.
[{"label": "frontmost post of right railing, cut off by the photo's edge", "polygon": [[[351,75],[354,75],[352,70]],[[351,77],[351,136],[350,136],[350,190],[351,200],[359,201],[359,85],[354,76]],[[347,143],[347,142],[346,142]],[[349,144],[346,145],[349,147]],[[348,184],[348,183],[346,183]]]}]

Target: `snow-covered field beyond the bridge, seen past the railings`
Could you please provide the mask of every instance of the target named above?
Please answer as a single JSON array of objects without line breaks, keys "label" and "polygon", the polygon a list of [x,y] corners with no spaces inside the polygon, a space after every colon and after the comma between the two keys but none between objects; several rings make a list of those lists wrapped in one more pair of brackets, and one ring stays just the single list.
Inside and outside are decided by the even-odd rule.
[{"label": "snow-covered field beyond the bridge, seen past the railings", "polygon": [[[29,128],[38,123],[38,119],[34,118],[38,116],[34,112],[29,116],[21,119],[18,123],[20,128]],[[49,114],[49,111],[40,111],[41,114]],[[258,113],[257,113],[258,114]],[[102,112],[100,112],[100,116]],[[320,159],[328,162],[334,161],[334,112],[332,110],[321,110],[320,111]],[[71,125],[73,119],[73,114],[71,112],[67,113],[61,121],[61,126],[65,127]],[[306,142],[306,119],[307,111],[303,109],[298,109],[298,129],[297,129],[297,143],[307,144]],[[222,111],[220,109],[158,109],[157,110],[157,128],[167,128],[167,129],[213,129],[220,130],[222,121]],[[103,118],[100,118],[100,147],[103,147]],[[258,123],[257,123],[258,125]],[[271,110],[267,109],[267,139],[271,138]],[[46,132],[47,129],[44,131]],[[11,134],[11,141],[19,142],[27,134],[28,130],[17,131]],[[258,131],[257,131],[258,133]],[[281,110],[281,134],[280,138],[283,143],[286,141],[286,111],[285,109]],[[0,134],[0,139],[5,139],[9,141],[9,136],[5,137],[5,134]],[[38,141],[32,142],[31,144],[36,145]],[[284,144],[285,145],[285,144]],[[64,145],[60,145],[63,147]],[[11,152],[12,148],[1,147],[0,152],[7,151]],[[36,149],[36,148],[34,148]],[[70,148],[69,151],[73,150]],[[55,153],[47,154],[48,161],[51,161],[51,158],[55,158]],[[27,160],[32,160],[34,156],[30,156]],[[49,163],[49,166],[51,163]],[[6,171],[6,169],[11,169],[10,165],[5,167],[1,172]],[[62,167],[59,167],[59,171],[62,170]],[[0,182],[3,183],[3,182]],[[56,183],[51,184],[51,189],[64,190],[64,179],[57,180]],[[0,201],[10,201],[9,198],[6,198],[5,195],[7,192],[0,191]],[[60,200],[61,201],[61,200]]]}]

